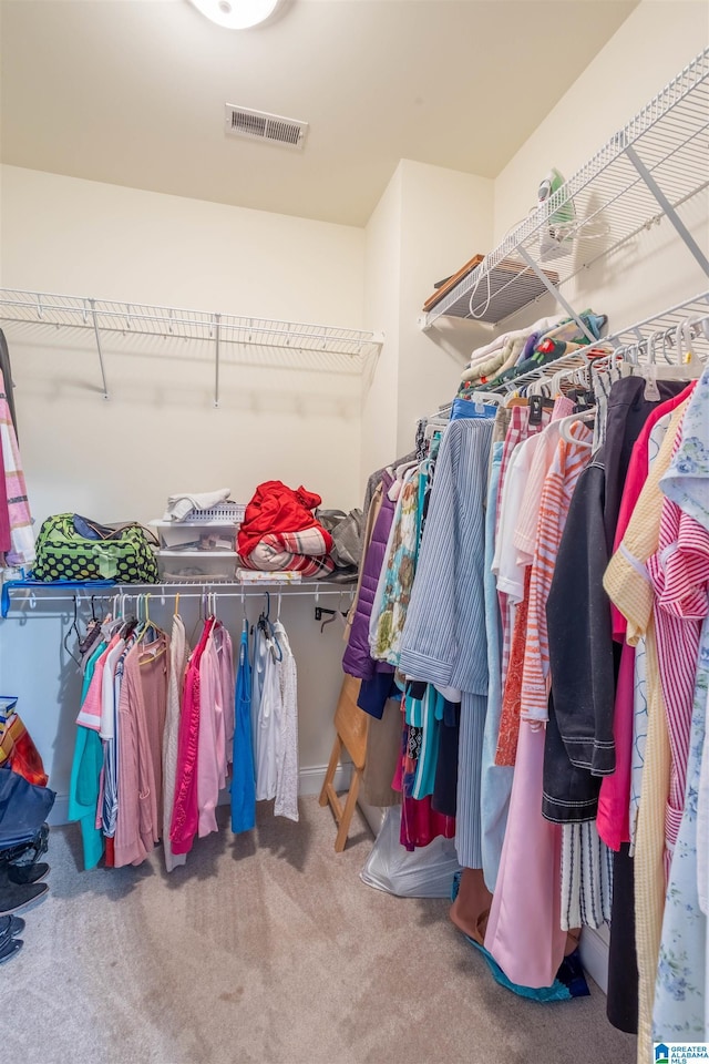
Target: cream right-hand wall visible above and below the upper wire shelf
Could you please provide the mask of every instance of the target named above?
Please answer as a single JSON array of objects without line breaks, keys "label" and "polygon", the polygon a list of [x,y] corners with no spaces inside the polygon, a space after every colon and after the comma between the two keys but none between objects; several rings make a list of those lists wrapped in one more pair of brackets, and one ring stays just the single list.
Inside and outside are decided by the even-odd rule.
[{"label": "cream right-hand wall visible above and below the upper wire shelf", "polygon": [[[643,0],[497,176],[495,242],[536,206],[537,186],[552,166],[571,177],[708,43],[705,0]],[[700,194],[680,214],[709,254],[709,195]],[[709,279],[664,219],[563,291],[579,310],[593,305],[608,314],[614,330],[708,287]],[[542,313],[547,306],[545,300]]]}]

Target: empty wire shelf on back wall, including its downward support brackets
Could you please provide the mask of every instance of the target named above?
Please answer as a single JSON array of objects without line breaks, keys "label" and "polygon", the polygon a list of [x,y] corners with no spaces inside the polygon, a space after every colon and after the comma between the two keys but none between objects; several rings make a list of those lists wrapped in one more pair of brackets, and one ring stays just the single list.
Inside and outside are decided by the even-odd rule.
[{"label": "empty wire shelf on back wall, including its downward support brackets", "polygon": [[58,295],[18,288],[0,288],[0,325],[16,326],[20,335],[35,329],[86,330],[93,335],[103,396],[109,398],[104,361],[104,338],[163,338],[209,345],[214,358],[214,402],[219,403],[222,364],[234,360],[234,351],[248,349],[257,365],[277,368],[336,370],[361,374],[367,360],[379,354],[383,336],[364,329],[332,328],[279,321],[234,314],[185,310]]}]

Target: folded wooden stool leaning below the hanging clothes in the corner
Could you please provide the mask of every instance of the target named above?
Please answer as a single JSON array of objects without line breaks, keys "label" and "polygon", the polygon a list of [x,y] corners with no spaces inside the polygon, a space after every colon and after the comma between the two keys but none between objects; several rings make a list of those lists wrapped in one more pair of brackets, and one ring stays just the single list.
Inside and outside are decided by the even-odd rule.
[{"label": "folded wooden stool leaning below the hanging clothes in the corner", "polygon": [[[367,729],[369,727],[369,716],[357,705],[361,681],[352,676],[345,676],[340,697],[335,710],[335,745],[330,755],[330,764],[325,775],[325,782],[320,791],[320,805],[327,806],[330,802],[332,815],[338,825],[337,838],[335,840],[336,853],[341,853],[347,842],[347,835],[350,829],[350,820],[357,805],[357,795],[359,785],[364,770],[364,760],[367,757]],[[332,780],[337,770],[337,763],[340,759],[342,747],[352,758],[352,779],[347,795],[345,806],[340,802]]]}]

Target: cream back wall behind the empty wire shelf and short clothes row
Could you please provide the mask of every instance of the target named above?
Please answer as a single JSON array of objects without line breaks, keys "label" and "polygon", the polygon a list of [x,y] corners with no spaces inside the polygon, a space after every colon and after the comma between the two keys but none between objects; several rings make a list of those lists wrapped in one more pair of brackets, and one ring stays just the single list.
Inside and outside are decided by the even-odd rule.
[{"label": "cream back wall behind the empty wire shelf and short clothes row", "polygon": [[[6,287],[362,327],[361,229],[12,166],[1,180]],[[270,479],[304,483],[326,507],[360,503],[361,378],[341,360],[291,369],[288,352],[224,347],[214,409],[210,345],[104,337],[105,402],[90,332],[9,325],[6,335],[38,521],[64,510],[147,521],[174,491],[224,485],[246,502]],[[342,646],[333,627],[320,635],[312,600],[284,611],[300,664],[301,765],[323,766]],[[21,696],[64,795],[79,693],[61,646],[66,618],[48,606],[0,624],[0,690]]]}]

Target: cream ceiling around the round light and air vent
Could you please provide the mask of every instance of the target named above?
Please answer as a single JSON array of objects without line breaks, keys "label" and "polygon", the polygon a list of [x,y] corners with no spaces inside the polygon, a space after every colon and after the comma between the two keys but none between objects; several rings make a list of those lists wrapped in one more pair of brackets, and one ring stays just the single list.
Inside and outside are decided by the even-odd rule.
[{"label": "cream ceiling around the round light and air vent", "polygon": [[[363,225],[400,158],[494,177],[637,0],[3,0],[6,163]],[[310,123],[302,152],[224,104]]]}]

